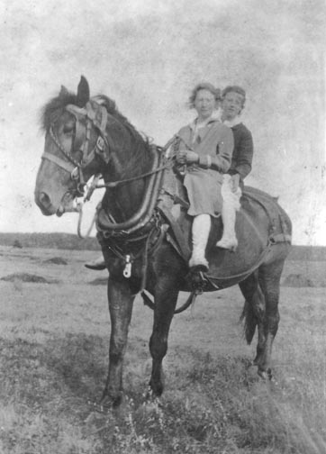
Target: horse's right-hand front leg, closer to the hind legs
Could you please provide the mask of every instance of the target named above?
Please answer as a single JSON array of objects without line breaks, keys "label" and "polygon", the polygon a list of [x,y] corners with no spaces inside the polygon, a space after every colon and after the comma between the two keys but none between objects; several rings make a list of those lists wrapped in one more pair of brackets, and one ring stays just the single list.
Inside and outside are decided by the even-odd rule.
[{"label": "horse's right-hand front leg, closer to the hind legs", "polygon": [[155,292],[153,332],[149,340],[149,350],[153,359],[149,386],[155,395],[161,395],[164,384],[162,360],[168,350],[168,331],[177,305],[177,285],[167,281],[159,282]]}]

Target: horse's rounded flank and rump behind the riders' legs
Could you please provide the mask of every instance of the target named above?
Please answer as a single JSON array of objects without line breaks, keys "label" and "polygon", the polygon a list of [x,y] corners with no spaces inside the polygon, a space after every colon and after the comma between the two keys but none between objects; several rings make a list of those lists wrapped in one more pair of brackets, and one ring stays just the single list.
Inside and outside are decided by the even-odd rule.
[{"label": "horse's rounded flank and rump behind the riders' legs", "polygon": [[[216,247],[222,236],[222,222],[213,224],[207,248],[209,275],[231,282],[242,280],[271,256],[277,245],[291,241],[292,226],[276,197],[253,187],[245,187],[240,198],[235,230],[238,247],[235,252]],[[281,246],[282,247],[282,246]]]}]

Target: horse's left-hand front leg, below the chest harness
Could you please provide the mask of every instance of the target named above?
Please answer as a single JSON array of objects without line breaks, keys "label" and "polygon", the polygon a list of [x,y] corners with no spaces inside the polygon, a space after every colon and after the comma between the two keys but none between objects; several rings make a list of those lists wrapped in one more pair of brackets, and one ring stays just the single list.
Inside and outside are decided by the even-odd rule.
[{"label": "horse's left-hand front leg, below the chest harness", "polygon": [[107,295],[111,317],[111,338],[109,371],[101,404],[117,406],[122,401],[122,365],[135,296],[131,295],[129,283],[126,280],[117,281],[112,277],[109,278]]}]

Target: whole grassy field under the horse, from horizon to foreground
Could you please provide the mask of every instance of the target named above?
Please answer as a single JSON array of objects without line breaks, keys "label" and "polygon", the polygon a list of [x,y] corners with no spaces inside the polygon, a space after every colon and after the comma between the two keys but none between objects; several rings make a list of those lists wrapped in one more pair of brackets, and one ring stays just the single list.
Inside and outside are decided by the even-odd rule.
[{"label": "whole grassy field under the horse, from horizon to foreground", "polygon": [[286,263],[284,281],[311,286],[282,286],[270,383],[251,366],[256,339],[243,339],[233,287],[176,315],[165,392],[149,399],[152,313],[138,298],[124,402],[97,413],[110,321],[105,286],[94,285],[106,271],[83,267],[95,254],[0,247],[1,453],[326,452],[326,261]]}]

